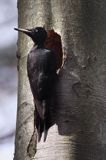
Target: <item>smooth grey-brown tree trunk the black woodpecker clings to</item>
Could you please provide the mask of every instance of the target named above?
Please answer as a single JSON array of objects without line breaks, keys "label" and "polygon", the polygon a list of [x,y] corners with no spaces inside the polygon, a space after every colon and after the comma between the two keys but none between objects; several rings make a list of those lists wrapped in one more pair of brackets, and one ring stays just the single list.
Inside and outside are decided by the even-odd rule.
[{"label": "smooth grey-brown tree trunk the black woodpecker clings to", "polygon": [[[56,103],[47,141],[36,146],[36,133],[27,153],[33,126],[33,101],[26,73],[32,44],[18,40],[18,115],[15,160],[106,159],[106,2],[105,0],[19,0],[19,26],[54,28],[67,53],[59,75]],[[35,145],[35,146],[34,146]],[[36,148],[36,149],[35,149]],[[34,151],[33,151],[34,150]]]}]

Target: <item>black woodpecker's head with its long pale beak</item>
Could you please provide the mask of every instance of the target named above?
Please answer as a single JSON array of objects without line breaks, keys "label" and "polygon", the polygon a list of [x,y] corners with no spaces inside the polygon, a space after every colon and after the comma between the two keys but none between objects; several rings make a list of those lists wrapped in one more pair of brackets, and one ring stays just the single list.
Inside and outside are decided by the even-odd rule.
[{"label": "black woodpecker's head with its long pale beak", "polygon": [[47,38],[47,32],[43,27],[36,27],[32,29],[14,28],[16,31],[20,31],[32,38],[34,43],[38,46],[44,45]]}]

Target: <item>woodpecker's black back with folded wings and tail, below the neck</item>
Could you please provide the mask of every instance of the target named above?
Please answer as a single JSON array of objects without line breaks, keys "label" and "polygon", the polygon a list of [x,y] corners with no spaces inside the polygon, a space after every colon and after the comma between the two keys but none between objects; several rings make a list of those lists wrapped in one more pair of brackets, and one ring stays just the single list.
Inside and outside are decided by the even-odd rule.
[{"label": "woodpecker's black back with folded wings and tail, below the neck", "polygon": [[[28,56],[27,71],[29,82],[34,97],[35,103],[35,125],[38,130],[39,140],[44,131],[44,140],[47,136],[47,131],[51,126],[50,120],[50,103],[52,90],[56,78],[56,57],[52,51],[44,54],[44,57]],[[36,58],[38,59],[36,66]]]}]

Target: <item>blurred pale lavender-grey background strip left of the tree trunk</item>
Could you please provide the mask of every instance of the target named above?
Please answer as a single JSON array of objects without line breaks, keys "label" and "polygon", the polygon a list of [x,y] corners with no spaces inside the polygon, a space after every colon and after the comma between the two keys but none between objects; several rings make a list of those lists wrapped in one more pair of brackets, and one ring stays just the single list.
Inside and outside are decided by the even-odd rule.
[{"label": "blurred pale lavender-grey background strip left of the tree trunk", "polygon": [[12,160],[17,108],[16,0],[0,1],[0,159]]}]

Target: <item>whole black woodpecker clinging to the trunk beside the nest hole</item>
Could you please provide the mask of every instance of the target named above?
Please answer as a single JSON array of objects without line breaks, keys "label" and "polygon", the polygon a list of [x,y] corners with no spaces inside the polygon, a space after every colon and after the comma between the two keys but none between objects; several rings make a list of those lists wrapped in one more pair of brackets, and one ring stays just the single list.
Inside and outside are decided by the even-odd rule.
[{"label": "whole black woodpecker clinging to the trunk beside the nest hole", "polygon": [[27,73],[35,104],[35,126],[40,141],[44,132],[44,141],[51,127],[50,106],[57,79],[56,55],[44,47],[47,32],[43,27],[33,29],[15,28],[31,37],[34,46],[28,54]]}]

